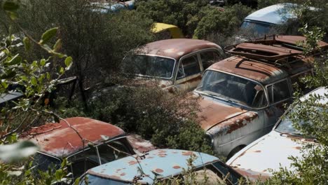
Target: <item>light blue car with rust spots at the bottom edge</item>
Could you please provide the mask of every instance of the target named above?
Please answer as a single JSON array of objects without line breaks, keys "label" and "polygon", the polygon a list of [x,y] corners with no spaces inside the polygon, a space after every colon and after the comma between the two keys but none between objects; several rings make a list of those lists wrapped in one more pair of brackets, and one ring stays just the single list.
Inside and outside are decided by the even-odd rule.
[{"label": "light blue car with rust spots at the bottom edge", "polygon": [[[196,158],[193,168],[186,162],[191,156]],[[238,184],[239,179],[243,179],[217,157],[200,152],[162,149],[149,151],[143,157],[128,156],[94,167],[81,178],[80,184],[155,184],[156,180],[161,182],[172,178],[191,181],[186,174],[188,170],[195,173],[197,184]]]}]

